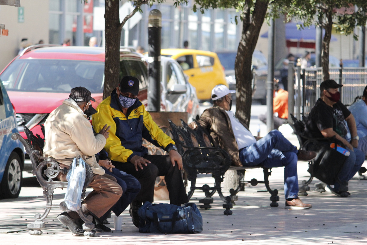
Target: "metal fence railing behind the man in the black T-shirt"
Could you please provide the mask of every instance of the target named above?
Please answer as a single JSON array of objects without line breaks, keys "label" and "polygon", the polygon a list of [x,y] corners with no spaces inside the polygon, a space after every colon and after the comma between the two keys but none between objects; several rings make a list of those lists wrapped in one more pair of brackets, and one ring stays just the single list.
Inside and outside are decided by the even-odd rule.
[{"label": "metal fence railing behind the man in the black T-shirt", "polygon": [[[297,74],[300,72],[301,74]],[[357,96],[363,94],[367,85],[367,68],[345,67],[330,68],[330,79],[339,84],[341,88],[341,102],[345,105],[352,104]],[[299,79],[300,78],[300,79]],[[295,113],[308,115],[320,97],[320,84],[323,81],[321,67],[295,69]],[[300,103],[301,102],[301,103]]]}]

